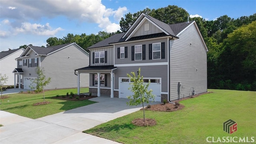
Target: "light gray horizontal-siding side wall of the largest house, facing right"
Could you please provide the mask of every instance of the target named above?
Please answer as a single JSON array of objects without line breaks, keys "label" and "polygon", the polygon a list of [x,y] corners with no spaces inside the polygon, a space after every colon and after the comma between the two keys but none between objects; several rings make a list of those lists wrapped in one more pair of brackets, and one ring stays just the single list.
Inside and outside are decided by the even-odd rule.
[{"label": "light gray horizontal-siding side wall of the largest house, facing right", "polygon": [[190,96],[192,88],[196,94],[207,92],[207,52],[195,25],[178,37],[170,40],[170,100],[178,98],[178,82],[184,88],[180,98]]}]

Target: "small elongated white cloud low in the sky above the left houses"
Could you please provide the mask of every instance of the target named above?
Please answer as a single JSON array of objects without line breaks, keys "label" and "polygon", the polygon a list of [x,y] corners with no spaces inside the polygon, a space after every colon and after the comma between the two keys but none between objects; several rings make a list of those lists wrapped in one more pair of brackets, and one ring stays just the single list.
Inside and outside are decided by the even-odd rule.
[{"label": "small elongated white cloud low in the sky above the left houses", "polygon": [[30,33],[39,36],[54,36],[58,31],[62,30],[62,28],[56,28],[55,30],[51,30],[49,23],[45,25],[42,24],[31,24],[29,22],[22,23],[21,27],[16,27],[14,29],[14,34],[19,33]]}]

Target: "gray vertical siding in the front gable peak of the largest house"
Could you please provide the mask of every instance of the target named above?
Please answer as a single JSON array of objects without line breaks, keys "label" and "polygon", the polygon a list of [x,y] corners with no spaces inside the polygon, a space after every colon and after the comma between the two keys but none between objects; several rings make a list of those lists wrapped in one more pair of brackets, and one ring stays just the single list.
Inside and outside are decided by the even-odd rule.
[{"label": "gray vertical siding in the front gable peak of the largest house", "polygon": [[[145,31],[145,24],[149,24],[149,30]],[[159,28],[157,28],[154,24],[152,24],[151,22],[146,20],[140,26],[140,28],[138,28],[138,30],[132,35],[132,37],[134,37],[134,36],[144,36],[144,35],[148,35],[148,34],[156,34],[156,33],[161,33],[161,32],[162,31]]]}]

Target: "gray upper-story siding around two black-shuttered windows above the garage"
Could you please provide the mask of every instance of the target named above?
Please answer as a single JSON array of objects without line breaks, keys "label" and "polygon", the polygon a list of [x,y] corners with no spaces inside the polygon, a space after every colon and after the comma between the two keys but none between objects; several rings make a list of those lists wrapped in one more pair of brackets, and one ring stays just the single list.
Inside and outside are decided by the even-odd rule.
[{"label": "gray upper-story siding around two black-shuttered windows above the garage", "polygon": [[[165,58],[159,59],[159,60],[149,60],[149,48],[148,44],[153,43],[161,43],[165,42]],[[146,45],[146,60],[134,60],[132,61],[132,46],[136,45]],[[128,58],[117,58],[117,48],[119,47],[128,47]],[[144,40],[140,42],[130,42],[125,44],[116,44],[115,45],[115,64],[138,64],[138,63],[152,63],[152,62],[168,62],[168,40],[167,38],[160,38],[160,39],[154,39],[154,40]]]}]

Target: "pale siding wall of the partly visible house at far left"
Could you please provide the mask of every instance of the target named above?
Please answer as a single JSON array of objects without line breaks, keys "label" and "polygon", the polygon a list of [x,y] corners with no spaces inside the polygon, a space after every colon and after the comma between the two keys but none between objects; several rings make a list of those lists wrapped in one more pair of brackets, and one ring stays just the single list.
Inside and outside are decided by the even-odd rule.
[{"label": "pale siding wall of the partly visible house at far left", "polygon": [[16,52],[0,60],[0,73],[2,74],[2,76],[4,74],[8,76],[8,81],[4,85],[14,85],[14,74],[12,73],[12,71],[14,70],[14,68],[18,68],[18,62],[15,60],[15,58],[18,58],[23,51],[24,49],[17,50]]}]

